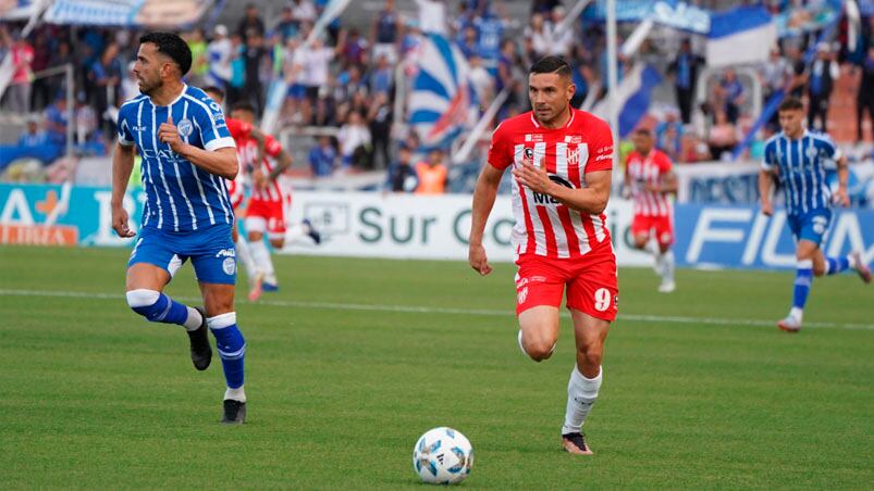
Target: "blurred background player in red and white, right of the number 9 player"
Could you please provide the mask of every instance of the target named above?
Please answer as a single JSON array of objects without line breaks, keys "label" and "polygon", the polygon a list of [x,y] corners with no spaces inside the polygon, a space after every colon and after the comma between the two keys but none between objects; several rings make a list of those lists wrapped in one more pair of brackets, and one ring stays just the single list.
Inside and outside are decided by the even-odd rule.
[{"label": "blurred background player in red and white, right of the number 9 player", "polygon": [[653,148],[649,129],[635,131],[635,151],[628,154],[625,167],[625,189],[635,201],[635,219],[631,235],[635,247],[645,250],[651,234],[655,232],[657,249],[655,270],[662,277],[658,291],[670,293],[677,287],[674,282],[674,205],[669,194],[677,192],[677,176],[674,174],[670,158]]}]

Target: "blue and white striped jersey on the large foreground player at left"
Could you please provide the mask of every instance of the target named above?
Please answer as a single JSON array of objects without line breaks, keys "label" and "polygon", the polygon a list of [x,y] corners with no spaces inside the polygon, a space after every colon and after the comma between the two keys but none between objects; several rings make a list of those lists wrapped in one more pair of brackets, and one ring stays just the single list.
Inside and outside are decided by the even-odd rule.
[{"label": "blue and white striped jersey on the large foreground player at left", "polygon": [[184,86],[169,106],[156,106],[146,95],[125,102],[119,113],[119,143],[136,144],[143,158],[146,205],[141,226],[190,231],[230,225],[234,211],[224,178],[197,167],[158,139],[168,111],[172,111],[183,141],[209,151],[235,147],[221,106],[196,87]]}]

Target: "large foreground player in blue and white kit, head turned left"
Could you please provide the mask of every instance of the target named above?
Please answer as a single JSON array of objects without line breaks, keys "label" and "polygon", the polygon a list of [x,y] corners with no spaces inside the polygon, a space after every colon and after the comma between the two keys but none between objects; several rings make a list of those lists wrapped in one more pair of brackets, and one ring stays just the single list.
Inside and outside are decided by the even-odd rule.
[{"label": "large foreground player in blue and white kit, head turned left", "polygon": [[[146,203],[127,263],[127,303],[148,320],[185,327],[198,370],[212,358],[207,330],[212,331],[226,382],[222,421],[243,423],[246,343],[234,312],[234,212],[224,184],[237,174],[236,148],[219,104],[182,81],[192,66],[185,41],[175,34],[150,33],[139,43],[134,75],[143,93],[121,108],[112,158],[112,227],[121,237],[135,236],[122,206],[134,147],[143,159]],[[163,293],[187,260],[194,265],[204,309]]]}]

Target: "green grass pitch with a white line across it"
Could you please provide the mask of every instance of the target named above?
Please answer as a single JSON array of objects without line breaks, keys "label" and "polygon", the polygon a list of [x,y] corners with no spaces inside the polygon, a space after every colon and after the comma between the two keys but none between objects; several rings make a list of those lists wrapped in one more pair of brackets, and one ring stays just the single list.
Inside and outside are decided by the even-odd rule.
[{"label": "green grass pitch with a white line across it", "polygon": [[[510,265],[280,256],[238,302],[248,423],[224,427],[218,357],[123,297],[126,250],[0,248],[0,488],[422,489],[419,435],[463,431],[470,489],[874,483],[874,287],[814,281],[799,335],[786,273],[621,269],[620,317],[586,424],[559,449],[573,363],[521,355]],[[185,266],[168,292],[190,301]],[[245,289],[238,289],[245,298]],[[38,294],[37,294],[38,293]]]}]

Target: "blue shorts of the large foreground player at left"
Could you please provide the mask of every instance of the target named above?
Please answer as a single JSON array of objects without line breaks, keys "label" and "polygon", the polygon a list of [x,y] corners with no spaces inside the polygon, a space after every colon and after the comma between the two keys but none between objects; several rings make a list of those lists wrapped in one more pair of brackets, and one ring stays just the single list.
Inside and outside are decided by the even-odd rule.
[{"label": "blue shorts of the large foreground player at left", "polygon": [[170,273],[172,278],[189,259],[198,281],[223,285],[236,282],[236,250],[229,225],[214,225],[185,232],[143,228],[127,267],[138,263],[153,264]]}]

